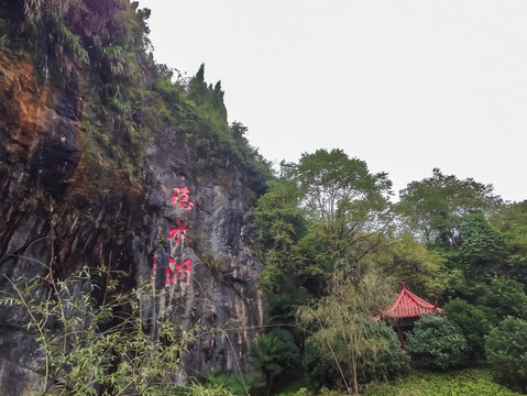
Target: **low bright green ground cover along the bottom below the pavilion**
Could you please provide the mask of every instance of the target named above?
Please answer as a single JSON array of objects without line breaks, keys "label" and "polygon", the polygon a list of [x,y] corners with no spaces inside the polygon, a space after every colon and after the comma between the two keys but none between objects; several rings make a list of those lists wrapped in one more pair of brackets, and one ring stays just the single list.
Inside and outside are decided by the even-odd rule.
[{"label": "low bright green ground cover along the bottom below the pavilion", "polygon": [[515,396],[518,395],[493,381],[484,370],[450,373],[414,372],[393,384],[366,385],[364,396]]}]

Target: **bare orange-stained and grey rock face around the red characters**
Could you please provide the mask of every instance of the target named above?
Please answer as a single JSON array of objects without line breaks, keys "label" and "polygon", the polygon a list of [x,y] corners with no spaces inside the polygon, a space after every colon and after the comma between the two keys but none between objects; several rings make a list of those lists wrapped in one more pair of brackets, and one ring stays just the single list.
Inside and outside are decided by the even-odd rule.
[{"label": "bare orange-stained and grey rock face around the red characters", "polygon": [[[178,326],[210,330],[185,356],[189,372],[246,370],[264,310],[240,172],[226,167],[217,177],[193,178],[176,132],[166,130],[143,147],[139,177],[116,169],[110,184],[99,184],[86,152],[83,114],[90,103],[81,73],[72,67],[64,84],[43,88],[33,64],[9,53],[0,55],[0,289],[48,267],[64,279],[83,265],[123,270],[132,288],[150,282],[156,257],[161,292],[171,257],[176,265],[190,260],[191,270],[166,288],[172,298],[158,297],[145,318],[169,312]],[[173,201],[174,188],[185,187],[189,209]],[[180,235],[177,243],[168,237],[180,222],[189,240]],[[37,345],[21,328],[25,319],[20,309],[0,307],[1,395],[22,395],[39,377],[31,371]]]}]

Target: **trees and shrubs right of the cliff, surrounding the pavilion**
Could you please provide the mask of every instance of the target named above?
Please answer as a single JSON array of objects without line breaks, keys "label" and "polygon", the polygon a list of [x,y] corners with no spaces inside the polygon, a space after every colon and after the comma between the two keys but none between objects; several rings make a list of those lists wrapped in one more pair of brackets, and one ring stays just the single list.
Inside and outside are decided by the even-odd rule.
[{"label": "trees and shrubs right of the cliff, surrounding the pavilion", "polygon": [[[525,391],[526,202],[503,202],[492,186],[440,169],[408,184],[398,202],[389,197],[387,174],[319,150],[283,163],[259,201],[271,323],[292,333],[311,386],[356,394],[406,375],[410,360],[431,372],[486,361],[498,381]],[[416,322],[406,351],[392,323],[373,320],[400,282],[444,308]],[[277,378],[298,375],[298,364],[274,359]]]}]

